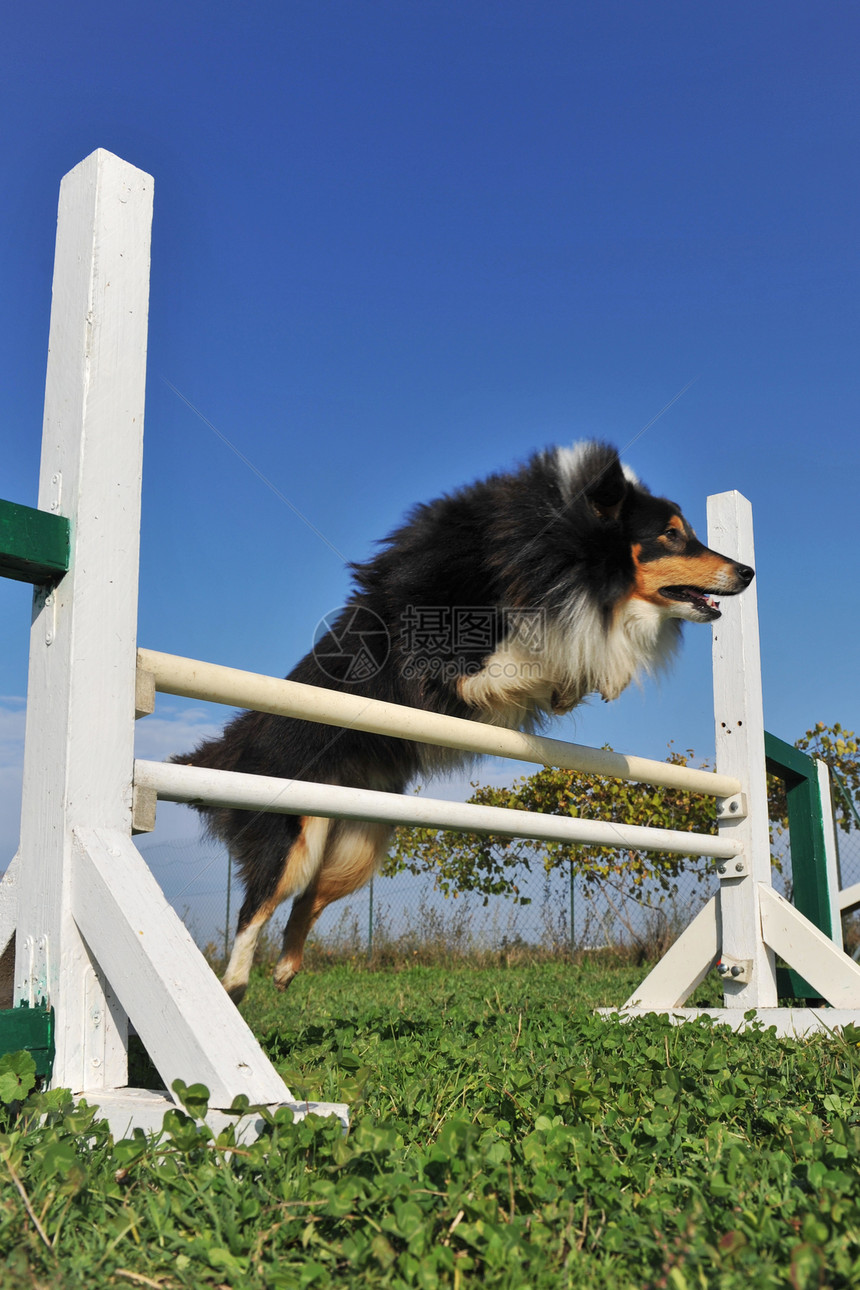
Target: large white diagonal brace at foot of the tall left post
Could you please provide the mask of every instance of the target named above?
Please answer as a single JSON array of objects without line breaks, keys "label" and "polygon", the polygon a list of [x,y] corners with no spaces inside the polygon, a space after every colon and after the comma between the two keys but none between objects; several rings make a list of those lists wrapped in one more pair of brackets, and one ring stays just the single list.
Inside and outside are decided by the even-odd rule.
[{"label": "large white diagonal brace at foot of the tall left post", "polygon": [[128,835],[76,829],[72,864],[75,921],[165,1086],[205,1084],[220,1109],[293,1102]]}]

